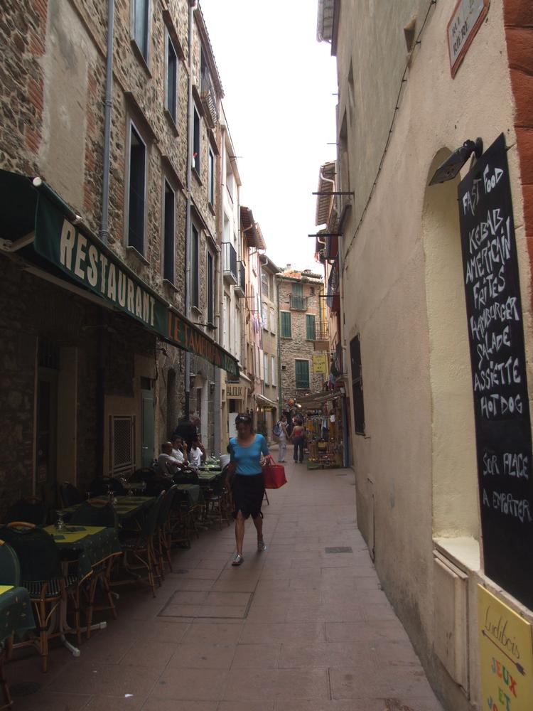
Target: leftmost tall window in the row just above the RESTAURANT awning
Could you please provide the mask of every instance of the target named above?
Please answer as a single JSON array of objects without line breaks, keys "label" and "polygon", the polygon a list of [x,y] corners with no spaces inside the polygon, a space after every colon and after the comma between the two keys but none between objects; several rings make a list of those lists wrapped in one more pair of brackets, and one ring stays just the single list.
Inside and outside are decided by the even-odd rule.
[{"label": "leftmost tall window in the row just above the RESTAURANT awning", "polygon": [[146,204],[146,146],[134,124],[129,124],[128,245],[144,254]]}]

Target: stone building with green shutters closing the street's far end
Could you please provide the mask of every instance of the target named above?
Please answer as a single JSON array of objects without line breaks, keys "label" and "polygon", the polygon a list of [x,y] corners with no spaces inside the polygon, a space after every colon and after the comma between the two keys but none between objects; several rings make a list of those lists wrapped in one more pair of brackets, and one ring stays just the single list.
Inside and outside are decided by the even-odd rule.
[{"label": "stone building with green shutters closing the street's far end", "polygon": [[328,348],[325,338],[323,277],[310,269],[299,272],[288,264],[276,274],[279,291],[279,358],[281,402],[318,392],[325,377],[313,372],[313,355]]}]

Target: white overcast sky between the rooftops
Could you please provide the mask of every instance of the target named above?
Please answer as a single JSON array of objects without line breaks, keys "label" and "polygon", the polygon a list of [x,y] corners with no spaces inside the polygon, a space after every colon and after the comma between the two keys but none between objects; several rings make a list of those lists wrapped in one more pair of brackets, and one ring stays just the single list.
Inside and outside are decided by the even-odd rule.
[{"label": "white overcast sky between the rooftops", "polygon": [[241,204],[261,225],[266,253],[314,260],[321,164],[335,160],[335,58],[316,40],[317,0],[200,0],[215,53],[242,179]]}]

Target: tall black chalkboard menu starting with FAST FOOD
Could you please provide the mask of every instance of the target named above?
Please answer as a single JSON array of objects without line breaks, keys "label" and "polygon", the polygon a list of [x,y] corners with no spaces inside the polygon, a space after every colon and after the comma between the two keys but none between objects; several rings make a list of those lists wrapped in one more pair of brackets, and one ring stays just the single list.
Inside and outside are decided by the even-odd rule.
[{"label": "tall black chalkboard menu starting with FAST FOOD", "polygon": [[458,196],[485,574],[533,608],[531,425],[503,134]]}]

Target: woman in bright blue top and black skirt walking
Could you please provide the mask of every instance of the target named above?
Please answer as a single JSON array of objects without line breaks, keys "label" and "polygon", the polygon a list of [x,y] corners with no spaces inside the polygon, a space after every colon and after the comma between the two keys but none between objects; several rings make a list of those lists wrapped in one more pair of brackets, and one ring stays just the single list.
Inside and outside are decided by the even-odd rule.
[{"label": "woman in bright blue top and black skirt walking", "polygon": [[242,543],[244,541],[244,521],[252,516],[257,530],[257,550],[265,550],[263,540],[263,515],[261,505],[264,496],[263,475],[261,473],[261,455],[267,456],[269,448],[262,434],[255,434],[252,417],[245,413],[235,418],[237,437],[230,439],[227,450],[230,452],[230,464],[227,468],[226,484],[230,483],[235,501],[235,542],[237,552],[232,565],[241,565]]}]

